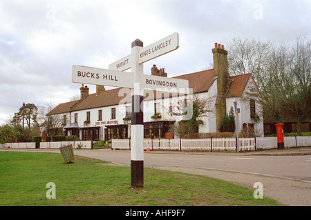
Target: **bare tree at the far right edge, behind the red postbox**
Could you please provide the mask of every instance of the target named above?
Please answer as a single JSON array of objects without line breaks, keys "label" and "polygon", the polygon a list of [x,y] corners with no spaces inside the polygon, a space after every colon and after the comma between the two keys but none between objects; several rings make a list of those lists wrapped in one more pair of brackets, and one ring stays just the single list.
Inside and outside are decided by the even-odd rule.
[{"label": "bare tree at the far right edge, behind the red postbox", "polygon": [[288,63],[279,75],[279,106],[283,114],[296,118],[301,135],[301,122],[311,116],[311,40],[297,37],[291,50],[283,51],[288,52]]}]

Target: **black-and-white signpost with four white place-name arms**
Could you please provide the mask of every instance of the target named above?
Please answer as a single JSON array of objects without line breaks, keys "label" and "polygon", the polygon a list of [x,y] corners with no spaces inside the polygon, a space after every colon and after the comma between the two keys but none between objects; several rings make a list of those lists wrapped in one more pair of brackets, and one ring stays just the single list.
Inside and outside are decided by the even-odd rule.
[{"label": "black-and-white signpost with four white place-name arms", "polygon": [[[171,79],[143,74],[143,63],[179,47],[179,35],[173,33],[156,43],[143,47],[142,41],[132,43],[131,54],[109,65],[109,70],[85,66],[73,66],[73,82],[132,89],[131,114],[131,188],[144,186],[144,120],[142,90],[174,90],[188,93],[185,79]],[[129,70],[131,72],[122,72]]]}]

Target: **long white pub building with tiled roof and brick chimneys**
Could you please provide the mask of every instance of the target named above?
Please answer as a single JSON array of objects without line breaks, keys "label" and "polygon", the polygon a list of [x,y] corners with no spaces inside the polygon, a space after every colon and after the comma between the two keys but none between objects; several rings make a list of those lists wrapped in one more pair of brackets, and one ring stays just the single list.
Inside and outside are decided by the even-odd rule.
[{"label": "long white pub building with tiled roof and brick chimneys", "polygon": [[[237,102],[239,110],[238,126],[242,130],[256,130],[263,135],[262,108],[255,99],[247,97],[247,94],[256,91],[256,85],[252,74],[229,76],[227,64],[227,51],[220,44],[215,43],[212,49],[214,68],[189,74],[183,74],[173,79],[187,79],[189,88],[194,94],[204,99],[211,112],[203,117],[198,126],[198,132],[218,132],[225,114],[234,107]],[[120,66],[126,63],[119,63]],[[98,77],[90,72],[85,77]],[[156,86],[166,85],[169,82],[164,69],[158,69],[156,65],[151,67],[151,75],[163,77],[162,80],[146,80],[146,84]],[[110,77],[106,76],[107,79]],[[110,80],[117,80],[111,78]],[[173,87],[173,83],[168,86]],[[82,140],[109,140],[127,139],[131,137],[131,90],[115,88],[105,90],[104,86],[96,86],[96,92],[89,94],[88,86],[80,88],[81,97],[77,101],[60,103],[47,115],[50,120],[61,119],[59,128],[66,136],[75,135]],[[191,94],[158,93],[152,90],[144,91],[144,138],[164,138],[164,134],[172,132],[171,126],[179,123],[173,112],[178,112],[178,101],[190,99]],[[259,119],[259,120],[258,120]],[[175,134],[175,137],[176,134]]]}]

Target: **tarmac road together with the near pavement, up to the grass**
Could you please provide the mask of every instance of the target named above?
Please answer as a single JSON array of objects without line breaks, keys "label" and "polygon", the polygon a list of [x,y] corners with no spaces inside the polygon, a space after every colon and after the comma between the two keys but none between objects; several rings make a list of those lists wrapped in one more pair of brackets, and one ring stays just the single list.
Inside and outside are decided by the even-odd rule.
[{"label": "tarmac road together with the near pavement, up to the grass", "polygon": [[[131,163],[129,150],[75,150],[75,154],[118,166]],[[264,197],[283,206],[311,206],[311,155],[151,152],[144,153],[144,166],[223,179],[252,190],[261,182]]]}]

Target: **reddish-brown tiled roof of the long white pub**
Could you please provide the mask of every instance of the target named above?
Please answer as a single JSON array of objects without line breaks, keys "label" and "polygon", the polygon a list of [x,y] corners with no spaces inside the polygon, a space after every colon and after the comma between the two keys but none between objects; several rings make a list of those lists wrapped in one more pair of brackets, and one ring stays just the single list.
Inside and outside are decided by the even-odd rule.
[{"label": "reddish-brown tiled roof of the long white pub", "polygon": [[[250,74],[231,77],[233,81],[230,86],[231,89],[229,91],[228,97],[241,96],[249,79],[249,76]],[[207,92],[211,85],[214,83],[214,81],[217,79],[216,77],[214,77],[214,69],[202,70],[200,72],[184,74],[172,78],[187,79],[189,81],[189,88],[192,88],[194,92],[197,93]],[[68,103],[59,104],[59,106],[57,106],[48,114],[59,114],[69,111],[100,108],[104,106],[115,106],[118,105],[120,101],[122,101],[122,103],[131,103],[131,92],[128,92],[126,95],[124,95],[123,91],[126,90],[122,90],[122,88],[115,88],[112,90],[104,90],[99,94],[89,94],[86,98],[82,100],[70,101]],[[119,97],[119,92],[121,97]]]}]

